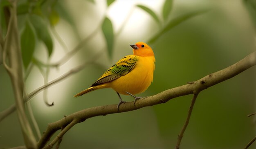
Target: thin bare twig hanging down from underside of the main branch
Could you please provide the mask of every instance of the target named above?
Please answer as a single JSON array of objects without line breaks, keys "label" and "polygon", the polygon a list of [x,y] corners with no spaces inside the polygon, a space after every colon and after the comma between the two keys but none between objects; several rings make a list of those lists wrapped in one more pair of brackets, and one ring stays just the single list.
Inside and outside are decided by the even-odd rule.
[{"label": "thin bare twig hanging down from underside of the main branch", "polygon": [[198,93],[194,93],[194,96],[191,100],[191,105],[189,107],[189,112],[188,112],[188,116],[186,118],[186,122],[184,123],[184,125],[183,125],[183,127],[180,131],[180,134],[178,135],[178,140],[177,140],[175,149],[180,149],[180,142],[182,140],[182,137],[183,137],[183,134],[186,130],[186,127],[189,125],[189,119],[191,117],[191,113],[192,113],[192,110],[193,110],[193,107],[194,107],[194,104],[195,104],[195,100],[196,100],[197,97],[198,97]]}]

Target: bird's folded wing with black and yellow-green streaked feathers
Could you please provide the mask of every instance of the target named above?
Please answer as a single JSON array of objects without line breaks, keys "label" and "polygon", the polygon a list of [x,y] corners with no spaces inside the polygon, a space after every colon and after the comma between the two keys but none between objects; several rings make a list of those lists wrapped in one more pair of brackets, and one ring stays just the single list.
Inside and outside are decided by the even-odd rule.
[{"label": "bird's folded wing with black and yellow-green streaked feathers", "polygon": [[138,60],[138,56],[129,55],[121,60],[119,60],[116,64],[114,64],[110,69],[108,69],[103,75],[93,84],[93,86],[97,86],[106,82],[110,82],[115,80],[121,76],[126,75],[135,67],[136,62]]}]

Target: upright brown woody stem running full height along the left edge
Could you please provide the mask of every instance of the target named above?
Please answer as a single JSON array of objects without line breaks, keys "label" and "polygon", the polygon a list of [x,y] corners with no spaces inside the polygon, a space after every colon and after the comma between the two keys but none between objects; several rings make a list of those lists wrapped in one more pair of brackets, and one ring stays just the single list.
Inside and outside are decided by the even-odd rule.
[{"label": "upright brown woody stem running full height along the left edge", "polygon": [[[18,119],[22,129],[23,138],[25,145],[28,149],[36,149],[36,139],[34,137],[33,131],[30,127],[28,118],[25,113],[24,107],[24,82],[23,82],[23,71],[22,71],[22,58],[20,50],[20,39],[17,24],[17,12],[16,12],[16,2],[11,2],[10,19],[7,28],[7,35],[4,41],[4,51],[8,52],[9,66],[5,63],[4,66],[9,72],[11,78],[13,93],[15,95],[15,103],[17,107]],[[5,57],[5,55],[4,55]]]}]

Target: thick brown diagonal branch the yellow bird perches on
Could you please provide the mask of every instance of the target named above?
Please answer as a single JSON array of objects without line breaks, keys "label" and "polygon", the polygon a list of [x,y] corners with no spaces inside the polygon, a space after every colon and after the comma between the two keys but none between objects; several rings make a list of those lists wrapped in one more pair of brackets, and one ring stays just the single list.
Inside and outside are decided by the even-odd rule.
[{"label": "thick brown diagonal branch the yellow bird perches on", "polygon": [[[69,116],[65,116],[61,120],[58,120],[56,122],[53,122],[48,125],[45,133],[43,134],[42,138],[38,141],[38,149],[44,148],[49,149],[52,148],[52,146],[61,138],[63,135],[69,130],[72,126],[79,122],[83,122],[84,120],[88,118],[92,118],[95,116],[106,116],[107,114],[112,113],[121,113],[126,111],[133,111],[136,109],[140,109],[142,107],[148,107],[157,105],[160,103],[165,103],[168,100],[171,100],[173,98],[184,96],[192,93],[199,93],[200,91],[207,89],[208,87],[211,87],[213,85],[216,85],[222,81],[225,81],[229,78],[232,78],[239,73],[245,71],[246,69],[249,69],[250,67],[256,65],[256,52],[253,52],[240,60],[239,62],[236,62],[235,64],[222,69],[220,71],[217,71],[215,73],[211,73],[191,84],[182,85],[180,87],[175,87],[173,89],[168,89],[166,91],[163,91],[161,93],[158,93],[154,96],[149,96],[145,98],[141,98],[140,100],[137,100],[136,104],[134,105],[133,102],[126,102],[124,104],[121,104],[119,107],[119,110],[117,110],[117,105],[105,105],[105,106],[99,106],[99,107],[92,107],[88,109],[83,109],[81,111],[78,111],[76,113],[72,113]],[[195,96],[194,96],[195,98]],[[195,99],[194,99],[195,100]],[[192,105],[193,107],[193,105]],[[52,135],[59,129],[63,129],[52,142],[46,146],[47,142],[50,140]],[[66,129],[66,127],[68,127]],[[64,131],[66,130],[66,131]]]}]

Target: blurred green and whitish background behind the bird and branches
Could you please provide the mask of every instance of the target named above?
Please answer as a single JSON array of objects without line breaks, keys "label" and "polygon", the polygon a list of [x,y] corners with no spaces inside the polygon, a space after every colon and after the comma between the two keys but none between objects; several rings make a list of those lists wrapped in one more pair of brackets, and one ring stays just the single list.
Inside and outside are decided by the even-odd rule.
[{"label": "blurred green and whitish background behind the bird and branches", "polygon": [[[20,0],[19,4],[22,2],[26,1]],[[115,0],[108,4],[105,0],[46,0],[43,5],[43,13],[49,16],[46,27],[52,37],[53,51],[48,60],[49,47],[37,38],[34,58],[44,63],[58,62],[67,51],[90,36],[70,60],[49,69],[48,80],[91,58],[94,60],[48,89],[49,103],[54,102],[54,106],[45,105],[43,93],[30,101],[41,133],[48,123],[64,115],[89,107],[117,104],[119,99],[112,89],[93,91],[79,98],[73,96],[88,88],[117,60],[131,54],[130,44],[148,42],[168,25],[168,21],[179,16],[204,11],[148,42],[155,53],[156,69],[153,83],[139,96],[152,96],[198,80],[255,51],[256,5],[253,0],[174,0],[169,3],[165,0]],[[158,20],[137,7],[138,4],[150,8]],[[163,15],[165,4],[170,7],[166,8],[170,12],[167,15]],[[113,35],[106,33],[109,29],[102,31],[105,16],[112,24]],[[27,13],[18,15],[21,34],[27,18]],[[61,46],[58,36],[67,50]],[[109,45],[110,42],[113,44]],[[47,71],[45,67],[40,69]],[[28,93],[43,85],[40,69],[32,67],[25,82]],[[256,135],[256,117],[247,118],[248,114],[256,112],[255,74],[255,67],[252,67],[199,94],[184,133],[182,149],[241,149],[247,145]],[[14,103],[11,81],[3,65],[0,65],[0,95],[0,111],[3,111]],[[122,98],[133,100],[130,96]],[[153,107],[90,118],[65,134],[61,149],[174,148],[191,98],[192,95],[182,96]],[[14,112],[0,122],[0,149],[20,145],[24,142]],[[254,148],[255,142],[249,149]]]}]

